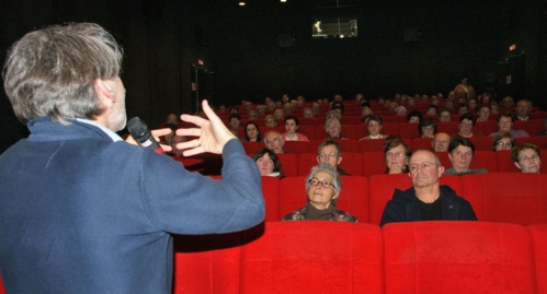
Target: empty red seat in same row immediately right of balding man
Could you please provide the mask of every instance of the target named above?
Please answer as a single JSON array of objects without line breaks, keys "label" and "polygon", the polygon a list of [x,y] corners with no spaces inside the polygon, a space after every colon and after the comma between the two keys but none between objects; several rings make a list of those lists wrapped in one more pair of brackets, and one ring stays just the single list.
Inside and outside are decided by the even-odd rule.
[{"label": "empty red seat in same row immediately right of balding man", "polygon": [[489,173],[466,175],[463,179],[465,198],[479,221],[547,223],[547,175]]}]

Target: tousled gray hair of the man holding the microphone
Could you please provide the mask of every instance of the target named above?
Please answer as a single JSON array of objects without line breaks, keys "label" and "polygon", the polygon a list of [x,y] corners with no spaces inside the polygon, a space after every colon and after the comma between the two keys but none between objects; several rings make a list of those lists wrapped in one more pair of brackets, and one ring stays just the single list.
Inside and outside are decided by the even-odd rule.
[{"label": "tousled gray hair of the man holding the microphone", "polygon": [[4,90],[23,124],[43,116],[65,125],[67,118],[92,119],[104,110],[94,81],[118,77],[122,58],[122,47],[98,24],[49,26],[12,45]]}]

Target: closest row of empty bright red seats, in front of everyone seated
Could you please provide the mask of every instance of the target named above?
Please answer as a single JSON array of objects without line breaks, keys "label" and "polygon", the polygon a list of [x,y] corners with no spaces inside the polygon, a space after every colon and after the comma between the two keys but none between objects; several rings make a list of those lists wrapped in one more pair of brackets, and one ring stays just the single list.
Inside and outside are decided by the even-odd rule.
[{"label": "closest row of empty bright red seats, in front of everyone seated", "polygon": [[175,244],[176,294],[547,293],[547,225],[275,222]]}]

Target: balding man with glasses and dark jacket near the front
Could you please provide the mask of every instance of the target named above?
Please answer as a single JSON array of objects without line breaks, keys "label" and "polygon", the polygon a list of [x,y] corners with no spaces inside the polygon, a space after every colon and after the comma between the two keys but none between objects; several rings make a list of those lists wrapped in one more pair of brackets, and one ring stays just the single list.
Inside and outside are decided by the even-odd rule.
[{"label": "balding man with glasses and dark jacket near the front", "polygon": [[387,223],[461,220],[477,221],[471,204],[438,179],[444,173],[438,156],[429,150],[418,150],[409,162],[412,188],[396,189],[381,215],[380,226]]}]

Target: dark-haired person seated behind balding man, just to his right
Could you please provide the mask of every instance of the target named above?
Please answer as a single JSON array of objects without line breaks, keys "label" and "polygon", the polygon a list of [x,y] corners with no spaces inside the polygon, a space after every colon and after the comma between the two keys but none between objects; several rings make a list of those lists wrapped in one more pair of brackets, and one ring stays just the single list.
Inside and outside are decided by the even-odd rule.
[{"label": "dark-haired person seated behind balding man, just to his right", "polygon": [[448,146],[448,158],[451,160],[452,168],[446,169],[444,174],[465,175],[488,173],[486,168],[474,169],[469,167],[474,153],[475,145],[471,140],[463,137],[453,138]]}]

